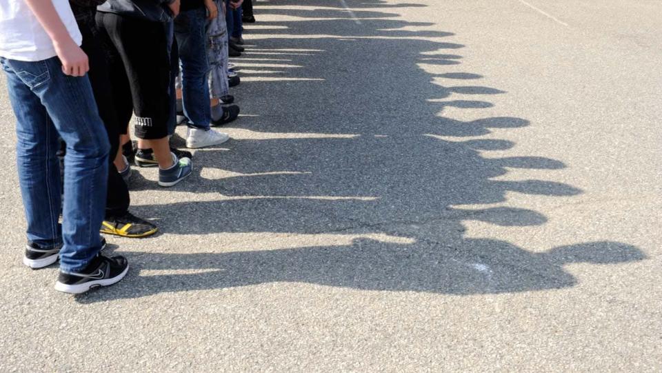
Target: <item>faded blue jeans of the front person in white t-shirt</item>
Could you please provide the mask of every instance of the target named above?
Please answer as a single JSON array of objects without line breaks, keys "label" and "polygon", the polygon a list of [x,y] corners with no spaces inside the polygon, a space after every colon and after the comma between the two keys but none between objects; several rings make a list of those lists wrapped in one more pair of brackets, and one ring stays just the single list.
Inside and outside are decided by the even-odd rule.
[{"label": "faded blue jeans of the front person in white t-shirt", "polygon": [[[60,269],[77,272],[101,250],[110,150],[90,81],[65,75],[57,57],[37,62],[0,58],[0,64],[17,118],[17,166],[28,240],[43,248],[63,243]],[[64,205],[56,157],[59,137],[67,144]]]}]

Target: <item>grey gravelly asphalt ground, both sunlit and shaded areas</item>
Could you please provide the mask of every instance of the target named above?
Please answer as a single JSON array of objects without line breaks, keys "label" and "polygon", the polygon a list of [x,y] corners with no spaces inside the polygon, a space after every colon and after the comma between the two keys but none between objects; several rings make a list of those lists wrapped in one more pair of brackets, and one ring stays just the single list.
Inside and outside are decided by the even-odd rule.
[{"label": "grey gravelly asphalt ground, both sunlit and shaded areas", "polygon": [[21,264],[1,90],[0,371],[662,371],[659,0],[256,17],[233,140],[135,170],[161,234],[110,288]]}]

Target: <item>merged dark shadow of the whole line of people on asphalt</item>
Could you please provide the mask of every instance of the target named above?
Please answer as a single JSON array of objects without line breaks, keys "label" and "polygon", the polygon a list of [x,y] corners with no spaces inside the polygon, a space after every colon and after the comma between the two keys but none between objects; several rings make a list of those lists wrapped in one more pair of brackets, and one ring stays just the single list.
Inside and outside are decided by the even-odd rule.
[{"label": "merged dark shadow of the whole line of people on asphalt", "polygon": [[[563,268],[568,263],[645,259],[632,245],[581,243],[581,237],[543,252],[466,237],[465,221],[519,227],[548,221],[525,207],[489,206],[505,202],[510,192],[552,198],[581,190],[553,181],[551,171],[566,166],[541,154],[490,157],[516,145],[494,135],[531,123],[481,117],[494,106],[487,97],[508,92],[481,85],[483,74],[461,68],[465,47],[445,40],[451,32],[411,30],[419,26],[394,19],[397,7],[383,1],[347,3],[370,12],[370,19],[354,11],[357,24],[341,7],[325,6],[320,14],[299,12],[296,21],[268,23],[286,28],[246,26],[249,48],[239,68],[252,70],[242,73],[252,79],[235,95],[250,117],[232,123],[235,139],[223,145],[229,151],[197,151],[195,163],[202,166],[188,184],[174,187],[209,198],[132,211],[158,219],[165,234],[182,240],[219,233],[332,234],[349,242],[279,248],[274,239],[265,249],[252,242],[228,248],[214,239],[201,241],[196,253],[122,252],[132,263],[128,279],[78,296],[79,302],[274,281],[439,294],[525,292],[575,285],[579,280]],[[377,17],[383,7],[389,13]],[[282,8],[256,10],[256,17],[283,14]],[[320,22],[321,14],[332,19]],[[472,119],[453,119],[445,115],[448,108],[469,110]],[[492,138],[481,138],[487,134]],[[548,180],[510,177],[518,169],[550,173]],[[152,184],[138,179],[134,188]]]}]

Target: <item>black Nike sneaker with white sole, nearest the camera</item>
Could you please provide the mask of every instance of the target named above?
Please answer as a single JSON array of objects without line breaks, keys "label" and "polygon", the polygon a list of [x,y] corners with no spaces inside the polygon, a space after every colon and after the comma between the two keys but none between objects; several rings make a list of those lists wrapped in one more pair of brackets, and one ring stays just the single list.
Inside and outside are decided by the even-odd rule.
[{"label": "black Nike sneaker with white sole, nearest the camera", "polygon": [[124,256],[98,254],[81,272],[60,272],[55,290],[69,294],[81,294],[93,288],[118,283],[126,276],[129,263]]}]

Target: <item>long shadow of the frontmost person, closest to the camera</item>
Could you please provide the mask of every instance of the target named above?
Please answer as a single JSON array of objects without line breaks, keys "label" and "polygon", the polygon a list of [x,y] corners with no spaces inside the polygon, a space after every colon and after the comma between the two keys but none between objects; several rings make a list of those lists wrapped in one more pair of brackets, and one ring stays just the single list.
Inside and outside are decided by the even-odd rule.
[{"label": "long shadow of the frontmost person, closest to the camera", "polygon": [[[402,245],[354,239],[352,245],[250,252],[168,254],[123,252],[141,270],[165,274],[131,276],[117,290],[83,296],[99,301],[271,282],[314,283],[358,290],[499,294],[560,289],[577,280],[563,270],[570,263],[639,261],[631,245],[592,242],[532,253],[496,240],[465,240],[461,248],[431,243]],[[172,274],[173,270],[192,273]],[[123,290],[121,288],[124,288]]]}]

